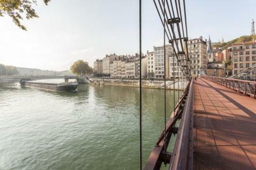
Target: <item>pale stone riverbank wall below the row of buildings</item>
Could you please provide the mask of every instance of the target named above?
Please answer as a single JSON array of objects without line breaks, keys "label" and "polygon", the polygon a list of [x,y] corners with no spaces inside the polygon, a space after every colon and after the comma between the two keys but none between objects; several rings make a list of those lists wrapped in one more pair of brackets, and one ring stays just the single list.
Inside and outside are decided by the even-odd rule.
[{"label": "pale stone riverbank wall below the row of buildings", "polygon": [[[126,87],[139,87],[139,80],[127,80],[127,79],[100,79],[100,78],[90,78],[93,84],[104,84],[108,86],[126,86]],[[173,81],[166,81],[166,89],[172,90],[183,90],[186,86],[185,82],[181,80],[175,81],[173,86]],[[142,88],[152,88],[152,89],[164,89],[163,80],[142,80]]]}]

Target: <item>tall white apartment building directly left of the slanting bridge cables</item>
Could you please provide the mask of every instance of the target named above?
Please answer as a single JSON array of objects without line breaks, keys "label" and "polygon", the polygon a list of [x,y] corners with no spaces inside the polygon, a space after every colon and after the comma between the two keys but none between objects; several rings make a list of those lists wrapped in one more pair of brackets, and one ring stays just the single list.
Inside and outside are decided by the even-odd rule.
[{"label": "tall white apartment building directly left of the slanting bridge cables", "polygon": [[[170,77],[169,70],[169,58],[173,53],[173,48],[171,45],[165,46],[165,72],[166,78]],[[155,56],[155,78],[164,78],[164,46],[154,47]]]}]

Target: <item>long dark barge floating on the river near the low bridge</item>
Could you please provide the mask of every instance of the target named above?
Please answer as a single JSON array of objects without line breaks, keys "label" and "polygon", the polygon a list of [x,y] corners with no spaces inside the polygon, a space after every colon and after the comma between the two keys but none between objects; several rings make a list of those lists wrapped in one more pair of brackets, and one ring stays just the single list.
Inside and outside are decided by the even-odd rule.
[{"label": "long dark barge floating on the river near the low bridge", "polygon": [[65,82],[65,83],[46,83],[31,81],[31,79],[20,80],[21,86],[36,87],[41,89],[48,89],[54,91],[76,91],[77,82]]}]

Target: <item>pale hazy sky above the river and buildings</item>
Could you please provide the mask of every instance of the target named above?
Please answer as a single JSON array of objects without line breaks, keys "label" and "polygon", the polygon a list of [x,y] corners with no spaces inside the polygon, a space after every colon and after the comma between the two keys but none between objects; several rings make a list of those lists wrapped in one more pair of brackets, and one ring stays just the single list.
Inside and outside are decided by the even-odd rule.
[{"label": "pale hazy sky above the river and buildings", "polygon": [[[225,41],[250,35],[255,0],[186,0],[188,37]],[[42,70],[69,70],[77,60],[139,52],[139,0],[38,0],[39,18],[23,20],[27,31],[0,17],[0,63]],[[142,0],[142,51],[163,45],[153,0]]]}]

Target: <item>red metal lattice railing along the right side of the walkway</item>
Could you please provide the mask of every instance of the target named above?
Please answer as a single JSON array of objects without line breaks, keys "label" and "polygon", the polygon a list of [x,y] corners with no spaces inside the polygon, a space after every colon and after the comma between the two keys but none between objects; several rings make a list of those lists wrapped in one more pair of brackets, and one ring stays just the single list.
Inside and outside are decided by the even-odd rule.
[{"label": "red metal lattice railing along the right side of the walkway", "polygon": [[202,76],[202,78],[218,83],[229,89],[238,91],[239,93],[244,94],[245,96],[256,98],[256,81],[220,78],[207,75]]}]

